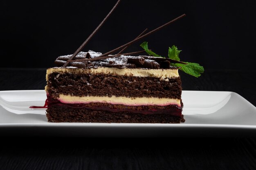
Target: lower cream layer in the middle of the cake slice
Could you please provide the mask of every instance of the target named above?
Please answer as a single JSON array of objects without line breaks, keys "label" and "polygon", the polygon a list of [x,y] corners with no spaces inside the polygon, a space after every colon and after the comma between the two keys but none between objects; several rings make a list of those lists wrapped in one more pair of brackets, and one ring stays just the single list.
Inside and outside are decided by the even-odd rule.
[{"label": "lower cream layer in the middle of the cake slice", "polygon": [[166,106],[166,105],[177,105],[180,107],[180,99],[174,98],[155,98],[155,97],[108,97],[108,96],[71,96],[60,94],[58,100],[62,103],[91,103],[91,102],[101,102],[101,103],[109,103],[112,105],[127,105],[127,106],[145,106],[145,105],[158,105],[158,106]]}]

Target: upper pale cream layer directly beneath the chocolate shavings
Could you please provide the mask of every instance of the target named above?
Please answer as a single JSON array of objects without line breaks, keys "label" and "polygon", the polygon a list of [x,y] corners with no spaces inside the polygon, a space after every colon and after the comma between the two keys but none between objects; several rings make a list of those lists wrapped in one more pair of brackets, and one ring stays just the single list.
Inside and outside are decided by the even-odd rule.
[{"label": "upper pale cream layer directly beneath the chocolate shavings", "polygon": [[[144,69],[144,68],[48,68],[47,75],[53,72],[68,72],[72,74],[112,74],[112,75],[123,75],[123,76],[136,76],[136,77],[157,77],[161,79],[179,77],[178,69]],[[168,79],[167,79],[168,80]]]}]

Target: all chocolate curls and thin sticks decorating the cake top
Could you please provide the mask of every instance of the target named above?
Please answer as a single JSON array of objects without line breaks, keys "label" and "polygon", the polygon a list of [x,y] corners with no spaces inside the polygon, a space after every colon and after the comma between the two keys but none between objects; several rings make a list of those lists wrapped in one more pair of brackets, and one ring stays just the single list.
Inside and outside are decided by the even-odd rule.
[{"label": "all chocolate curls and thin sticks decorating the cake top", "polygon": [[[159,27],[155,28],[154,30],[144,34],[147,31],[147,28],[146,28],[134,40],[132,40],[118,48],[115,48],[114,50],[106,52],[105,54],[100,53],[100,55],[97,56],[97,58],[91,57],[90,52],[87,52],[86,54],[83,54],[84,52],[82,52],[82,54],[83,54],[82,56],[80,55],[80,56],[76,57],[79,54],[79,52],[81,52],[81,50],[84,48],[84,46],[88,43],[88,41],[90,41],[90,39],[97,33],[97,31],[101,28],[101,26],[106,22],[106,20],[112,14],[112,12],[115,10],[115,8],[119,4],[119,2],[120,2],[120,0],[117,1],[117,3],[111,9],[111,11],[108,13],[108,15],[103,19],[103,21],[99,24],[99,26],[97,26],[97,28],[92,32],[92,34],[83,42],[83,44],[76,50],[76,52],[74,52],[74,54],[72,54],[71,56],[68,55],[68,56],[58,57],[54,63],[57,66],[62,65],[63,68],[65,68],[69,64],[73,67],[78,67],[78,68],[89,68],[89,67],[94,67],[95,65],[105,66],[105,67],[117,67],[117,68],[122,68],[122,67],[136,68],[137,65],[139,65],[139,67],[141,67],[141,68],[153,68],[153,69],[160,68],[160,64],[156,62],[155,58],[146,57],[146,59],[143,59],[143,58],[145,58],[144,56],[139,57],[139,58],[130,57],[130,58],[125,59],[126,62],[121,62],[121,63],[115,63],[115,61],[106,62],[104,60],[106,60],[108,58],[113,58],[113,57],[115,57],[115,59],[117,59],[118,56],[124,57],[125,55],[124,54],[122,55],[120,53],[122,51],[124,51],[128,46],[130,46],[131,44],[139,41],[140,39],[142,39],[152,33],[155,33],[156,31],[159,31],[160,29],[164,28],[165,26],[181,19],[182,17],[186,16],[186,14],[180,15],[179,17],[176,17],[175,19],[171,20],[170,22],[167,22],[166,24],[159,26]],[[118,54],[110,55],[113,52],[116,52],[118,50],[121,50]],[[144,51],[140,51],[140,52],[144,52]],[[133,53],[138,53],[138,52],[133,52]],[[132,54],[132,53],[130,53],[130,54]],[[92,61],[94,61],[94,62],[92,62]],[[98,62],[95,62],[95,61],[98,61]],[[171,60],[171,59],[160,60],[160,62],[162,62],[161,65],[163,68],[168,68],[168,66],[166,65],[168,62],[166,62],[166,61],[173,61],[173,60]],[[175,61],[175,62],[178,62],[178,61]],[[169,68],[171,68],[171,67],[169,67]]]}]

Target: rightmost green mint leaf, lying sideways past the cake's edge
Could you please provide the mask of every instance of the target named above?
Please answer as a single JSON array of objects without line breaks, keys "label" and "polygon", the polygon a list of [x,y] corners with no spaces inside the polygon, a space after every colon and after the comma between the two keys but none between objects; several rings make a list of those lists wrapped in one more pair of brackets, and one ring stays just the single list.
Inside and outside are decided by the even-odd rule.
[{"label": "rightmost green mint leaf, lying sideways past the cake's edge", "polygon": [[195,77],[201,76],[201,73],[204,72],[204,68],[198,63],[189,63],[189,62],[184,62],[184,63],[186,64],[174,63],[171,65],[176,67],[181,67],[179,68],[179,70],[182,70],[183,72]]}]

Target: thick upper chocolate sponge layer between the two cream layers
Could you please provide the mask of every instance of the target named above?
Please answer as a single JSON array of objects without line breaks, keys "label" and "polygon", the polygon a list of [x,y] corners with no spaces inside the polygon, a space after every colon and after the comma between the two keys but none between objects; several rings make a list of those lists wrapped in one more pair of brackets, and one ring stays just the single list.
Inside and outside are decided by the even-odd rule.
[{"label": "thick upper chocolate sponge layer between the two cream layers", "polygon": [[164,81],[155,77],[53,72],[48,75],[47,92],[54,98],[59,94],[72,94],[181,99],[182,87],[180,77]]}]

